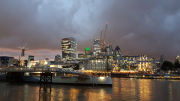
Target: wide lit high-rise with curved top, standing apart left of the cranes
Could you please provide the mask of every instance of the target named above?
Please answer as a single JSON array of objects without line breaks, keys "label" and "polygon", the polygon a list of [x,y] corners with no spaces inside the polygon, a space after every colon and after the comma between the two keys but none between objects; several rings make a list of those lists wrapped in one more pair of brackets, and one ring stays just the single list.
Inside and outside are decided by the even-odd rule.
[{"label": "wide lit high-rise with curved top, standing apart left of the cranes", "polygon": [[62,60],[74,61],[76,60],[77,44],[76,39],[73,37],[64,38],[61,41],[62,47]]}]

